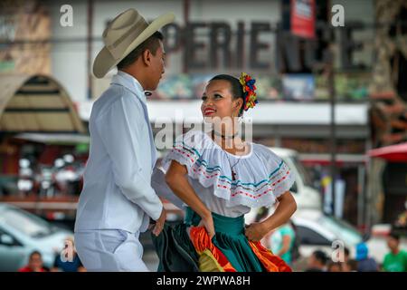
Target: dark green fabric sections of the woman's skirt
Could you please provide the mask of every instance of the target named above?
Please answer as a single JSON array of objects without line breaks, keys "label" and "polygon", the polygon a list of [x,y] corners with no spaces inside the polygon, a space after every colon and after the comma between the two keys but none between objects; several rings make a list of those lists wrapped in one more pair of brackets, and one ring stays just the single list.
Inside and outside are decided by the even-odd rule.
[{"label": "dark green fabric sections of the woman's skirt", "polygon": [[[186,227],[198,226],[201,218],[191,209],[185,210],[185,222],[174,227],[166,225],[162,234],[152,236],[160,258],[159,271],[197,271],[199,256],[186,233]],[[244,236],[244,216],[223,217],[213,213],[215,236],[213,245],[222,252],[238,272],[266,271]],[[188,261],[188,262],[185,262]],[[184,266],[177,265],[184,262]]]}]

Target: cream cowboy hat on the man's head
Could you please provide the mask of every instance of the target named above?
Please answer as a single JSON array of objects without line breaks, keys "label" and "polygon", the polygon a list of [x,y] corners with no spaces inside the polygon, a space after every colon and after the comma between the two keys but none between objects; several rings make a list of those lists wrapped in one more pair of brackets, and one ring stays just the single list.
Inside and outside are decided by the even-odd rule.
[{"label": "cream cowboy hat on the man's head", "polygon": [[105,46],[93,62],[93,74],[97,78],[105,76],[128,53],[156,33],[158,29],[172,23],[174,19],[174,14],[166,13],[148,24],[135,9],[128,9],[118,14],[103,32]]}]

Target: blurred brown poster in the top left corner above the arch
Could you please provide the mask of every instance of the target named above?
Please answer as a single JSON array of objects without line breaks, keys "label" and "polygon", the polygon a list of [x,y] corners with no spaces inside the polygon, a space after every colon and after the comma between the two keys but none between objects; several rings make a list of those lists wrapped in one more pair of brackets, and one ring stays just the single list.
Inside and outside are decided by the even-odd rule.
[{"label": "blurred brown poster in the top left corner above the arch", "polygon": [[51,16],[40,0],[0,4],[0,73],[51,73]]}]

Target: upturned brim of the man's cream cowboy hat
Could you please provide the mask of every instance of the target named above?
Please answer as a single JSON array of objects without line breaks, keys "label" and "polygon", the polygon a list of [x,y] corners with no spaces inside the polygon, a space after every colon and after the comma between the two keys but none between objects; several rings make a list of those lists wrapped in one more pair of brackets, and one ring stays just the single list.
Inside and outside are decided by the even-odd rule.
[{"label": "upturned brim of the man's cream cowboy hat", "polygon": [[130,45],[128,45],[125,53],[123,53],[118,60],[115,60],[106,46],[104,46],[93,62],[93,74],[99,79],[104,77],[106,73],[120,63],[120,61],[122,61],[128,55],[128,53],[131,53],[138,45],[146,41],[151,35],[155,34],[156,31],[158,31],[161,27],[172,23],[174,20],[175,14],[173,13],[166,13],[158,16],[141,34],[134,39],[132,43],[130,43]]}]

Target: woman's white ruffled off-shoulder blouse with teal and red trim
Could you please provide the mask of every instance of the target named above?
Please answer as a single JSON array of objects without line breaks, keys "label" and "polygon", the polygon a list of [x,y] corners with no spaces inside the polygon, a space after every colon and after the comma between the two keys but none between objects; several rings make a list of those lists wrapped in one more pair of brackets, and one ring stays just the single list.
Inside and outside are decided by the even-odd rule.
[{"label": "woman's white ruffled off-shoulder blouse with teal and red trim", "polygon": [[[236,218],[251,208],[270,207],[295,181],[287,164],[274,152],[260,144],[250,145],[249,154],[237,156],[222,150],[204,131],[188,131],[175,140],[174,148],[162,160],[161,169],[166,172],[172,160],[185,165],[188,179],[206,207],[219,215]],[[162,178],[157,181],[157,174],[156,170],[153,188],[163,195],[166,186],[154,185],[165,182]],[[164,195],[167,198],[168,194]],[[176,198],[168,199],[176,203]]]}]

